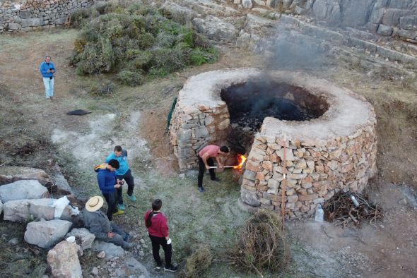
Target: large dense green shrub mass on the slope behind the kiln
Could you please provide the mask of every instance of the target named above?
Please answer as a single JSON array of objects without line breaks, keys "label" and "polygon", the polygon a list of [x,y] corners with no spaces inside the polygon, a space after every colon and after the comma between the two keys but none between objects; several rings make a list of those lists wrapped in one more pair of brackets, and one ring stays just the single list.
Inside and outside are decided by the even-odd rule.
[{"label": "large dense green shrub mass on the slope behind the kiln", "polygon": [[163,17],[152,6],[105,6],[110,12],[91,18],[74,42],[70,64],[78,75],[117,73],[127,85],[144,75],[165,76],[186,66],[218,59],[209,40],[192,28]]}]

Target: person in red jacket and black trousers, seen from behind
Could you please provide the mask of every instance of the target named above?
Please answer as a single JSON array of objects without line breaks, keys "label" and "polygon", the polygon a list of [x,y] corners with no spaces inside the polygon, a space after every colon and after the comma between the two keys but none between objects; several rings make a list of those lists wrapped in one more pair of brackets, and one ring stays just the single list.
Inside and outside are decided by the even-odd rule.
[{"label": "person in red jacket and black trousers, seen from behind", "polygon": [[159,246],[162,246],[165,253],[164,270],[176,272],[178,267],[172,265],[171,262],[172,246],[171,238],[168,235],[168,221],[167,217],[160,212],[161,207],[162,201],[160,199],[154,200],[152,203],[152,210],[148,210],[143,219],[145,220],[145,225],[148,229],[149,238],[151,238],[152,255],[156,261],[156,269],[160,270],[160,267],[162,266],[162,261],[159,256]]}]

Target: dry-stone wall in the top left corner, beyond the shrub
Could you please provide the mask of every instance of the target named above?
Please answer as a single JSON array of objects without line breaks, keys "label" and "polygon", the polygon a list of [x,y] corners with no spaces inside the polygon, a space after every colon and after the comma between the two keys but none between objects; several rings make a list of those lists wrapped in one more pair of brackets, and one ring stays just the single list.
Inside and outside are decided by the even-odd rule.
[{"label": "dry-stone wall in the top left corner, beyond the shrub", "polygon": [[[94,0],[23,0],[0,6],[0,33],[62,25],[69,14],[88,8]],[[1,1],[0,1],[1,4]]]}]

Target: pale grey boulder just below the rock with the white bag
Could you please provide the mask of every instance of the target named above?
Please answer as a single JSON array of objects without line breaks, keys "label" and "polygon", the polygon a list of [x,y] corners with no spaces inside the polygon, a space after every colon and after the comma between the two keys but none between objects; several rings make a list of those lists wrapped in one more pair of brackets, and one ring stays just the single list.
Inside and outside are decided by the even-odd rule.
[{"label": "pale grey boulder just below the rock with the white bag", "polygon": [[25,241],[41,248],[49,248],[64,238],[71,226],[71,222],[59,219],[30,222],[26,226]]}]

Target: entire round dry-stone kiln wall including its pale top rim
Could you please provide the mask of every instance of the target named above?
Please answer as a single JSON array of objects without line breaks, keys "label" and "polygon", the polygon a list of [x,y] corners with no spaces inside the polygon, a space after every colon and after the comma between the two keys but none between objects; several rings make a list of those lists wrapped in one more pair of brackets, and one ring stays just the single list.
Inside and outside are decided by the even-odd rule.
[{"label": "entire round dry-stone kiln wall including its pale top rim", "polygon": [[[263,74],[254,68],[240,68],[201,73],[187,80],[170,127],[180,169],[196,167],[196,150],[202,145],[225,142],[230,116],[221,90]],[[326,99],[329,109],[310,121],[264,119],[247,159],[242,202],[281,210],[284,145],[288,171],[284,200],[289,217],[310,216],[317,204],[337,191],[363,191],[376,171],[372,106],[349,90],[305,73],[275,71],[269,78]],[[297,98],[291,94],[286,97]]]}]

